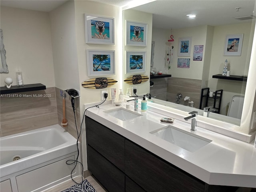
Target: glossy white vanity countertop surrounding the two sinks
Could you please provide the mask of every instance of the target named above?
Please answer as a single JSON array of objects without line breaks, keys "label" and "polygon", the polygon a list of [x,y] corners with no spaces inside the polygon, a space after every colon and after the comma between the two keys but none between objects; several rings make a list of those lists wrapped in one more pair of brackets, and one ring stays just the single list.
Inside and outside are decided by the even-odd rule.
[{"label": "glossy white vanity countertop surrounding the two sinks", "polygon": [[176,119],[170,125],[212,140],[195,152],[189,152],[150,134],[169,125],[160,122],[162,117],[172,116],[150,110],[141,112],[139,108],[135,112],[142,116],[122,121],[104,112],[116,108],[120,106],[102,105],[88,109],[86,115],[208,184],[256,188],[253,142],[249,144],[200,127],[190,131],[191,120],[186,123]]}]

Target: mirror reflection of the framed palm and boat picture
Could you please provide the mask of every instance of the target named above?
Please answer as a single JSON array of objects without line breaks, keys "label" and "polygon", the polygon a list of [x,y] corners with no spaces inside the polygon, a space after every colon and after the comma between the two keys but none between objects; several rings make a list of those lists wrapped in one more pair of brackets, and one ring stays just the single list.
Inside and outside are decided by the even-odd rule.
[{"label": "mirror reflection of the framed palm and boat picture", "polygon": [[126,51],[126,73],[144,73],[146,71],[146,52]]}]

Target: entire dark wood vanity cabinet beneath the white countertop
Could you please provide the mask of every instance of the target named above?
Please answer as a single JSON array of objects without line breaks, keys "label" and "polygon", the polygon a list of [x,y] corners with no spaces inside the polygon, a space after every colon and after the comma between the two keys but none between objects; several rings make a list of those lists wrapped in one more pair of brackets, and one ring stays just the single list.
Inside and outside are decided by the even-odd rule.
[{"label": "entire dark wood vanity cabinet beneath the white countertop", "polygon": [[86,141],[88,170],[109,192],[236,189],[208,185],[87,116]]}]

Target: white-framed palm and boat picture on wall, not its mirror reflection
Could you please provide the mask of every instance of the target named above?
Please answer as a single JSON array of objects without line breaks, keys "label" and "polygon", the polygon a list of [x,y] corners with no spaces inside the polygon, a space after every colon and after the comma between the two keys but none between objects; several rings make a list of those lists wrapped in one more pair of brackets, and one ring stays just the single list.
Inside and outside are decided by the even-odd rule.
[{"label": "white-framed palm and boat picture on wall, not its mirror reflection", "polygon": [[87,50],[87,70],[89,76],[115,74],[114,50]]}]

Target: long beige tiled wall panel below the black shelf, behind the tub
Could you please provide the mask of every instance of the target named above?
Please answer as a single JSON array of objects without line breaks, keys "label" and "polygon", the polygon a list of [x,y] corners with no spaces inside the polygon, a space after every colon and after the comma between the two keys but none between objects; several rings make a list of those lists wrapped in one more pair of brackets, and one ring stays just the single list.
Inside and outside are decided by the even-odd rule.
[{"label": "long beige tiled wall panel below the black shelf, behind the tub", "polygon": [[54,87],[0,97],[1,137],[57,123]]}]

